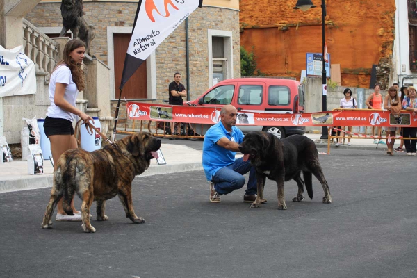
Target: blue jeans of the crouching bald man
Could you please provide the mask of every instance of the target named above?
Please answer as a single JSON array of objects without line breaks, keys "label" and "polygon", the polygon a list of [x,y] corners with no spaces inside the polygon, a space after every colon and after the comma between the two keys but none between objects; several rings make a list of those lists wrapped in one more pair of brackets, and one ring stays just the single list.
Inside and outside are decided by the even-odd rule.
[{"label": "blue jeans of the crouching bald man", "polygon": [[231,193],[233,190],[243,188],[245,185],[245,177],[243,177],[243,174],[246,174],[247,172],[249,172],[249,181],[247,181],[245,194],[256,194],[255,168],[250,165],[250,161],[243,161],[243,158],[236,159],[233,164],[224,167],[215,173],[211,179],[214,183],[214,189],[219,195],[223,195]]}]

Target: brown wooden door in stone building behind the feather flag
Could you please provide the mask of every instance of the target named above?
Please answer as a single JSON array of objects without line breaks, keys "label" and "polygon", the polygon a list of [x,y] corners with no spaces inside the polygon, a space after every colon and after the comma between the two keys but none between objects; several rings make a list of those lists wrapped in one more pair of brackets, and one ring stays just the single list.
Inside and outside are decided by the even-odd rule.
[{"label": "brown wooden door in stone building behind the feather flag", "polygon": [[[124,58],[126,58],[127,47],[131,40],[131,34],[113,34],[114,42],[114,66],[115,66],[115,99],[119,97],[120,81],[124,67]],[[140,65],[138,70],[124,84],[122,90],[122,99],[147,99],[146,83],[146,60]]]}]

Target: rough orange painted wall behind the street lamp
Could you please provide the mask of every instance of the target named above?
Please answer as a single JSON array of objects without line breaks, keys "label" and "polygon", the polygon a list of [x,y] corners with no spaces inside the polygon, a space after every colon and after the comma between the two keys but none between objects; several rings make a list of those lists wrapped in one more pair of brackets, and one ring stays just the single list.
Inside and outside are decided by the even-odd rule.
[{"label": "rough orange painted wall behind the street lamp", "polygon": [[[283,3],[284,2],[284,3]],[[322,52],[320,0],[317,8],[294,10],[296,0],[240,0],[240,44],[254,46],[258,68],[271,76],[300,80],[307,52]],[[332,64],[341,64],[342,85],[368,88],[370,70],[392,57],[394,0],[328,0],[325,41]],[[310,24],[289,26],[285,24]],[[275,28],[259,28],[275,25]]]}]

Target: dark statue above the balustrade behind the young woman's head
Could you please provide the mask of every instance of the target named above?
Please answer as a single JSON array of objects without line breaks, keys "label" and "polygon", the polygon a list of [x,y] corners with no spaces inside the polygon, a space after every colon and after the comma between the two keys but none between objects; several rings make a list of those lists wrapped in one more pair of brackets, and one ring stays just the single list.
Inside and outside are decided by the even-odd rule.
[{"label": "dark statue above the balustrade behind the young woman's head", "polygon": [[80,38],[85,42],[85,52],[90,54],[90,44],[95,38],[95,28],[85,21],[83,0],[63,0],[60,6],[63,17],[63,29],[60,37],[71,30],[74,38]]}]

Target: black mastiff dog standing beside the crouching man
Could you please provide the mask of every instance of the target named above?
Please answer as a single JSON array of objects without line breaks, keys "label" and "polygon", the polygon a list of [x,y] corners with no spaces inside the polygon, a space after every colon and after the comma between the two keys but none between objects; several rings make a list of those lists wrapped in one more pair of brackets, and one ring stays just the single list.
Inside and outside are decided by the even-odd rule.
[{"label": "black mastiff dog standing beside the crouching man", "polygon": [[[322,184],[325,191],[323,203],[331,204],[329,186],[318,162],[318,152],[313,140],[302,135],[293,135],[288,138],[278,139],[272,133],[252,131],[243,138],[239,150],[244,154],[243,160],[250,159],[256,168],[258,195],[250,207],[257,208],[263,199],[263,187],[265,179],[277,182],[278,209],[286,209],[284,200],[284,181],[294,179],[297,182],[298,194],[293,199],[300,202],[304,199],[304,182],[309,197],[313,199],[312,174]],[[301,177],[301,172],[304,181]]]}]

